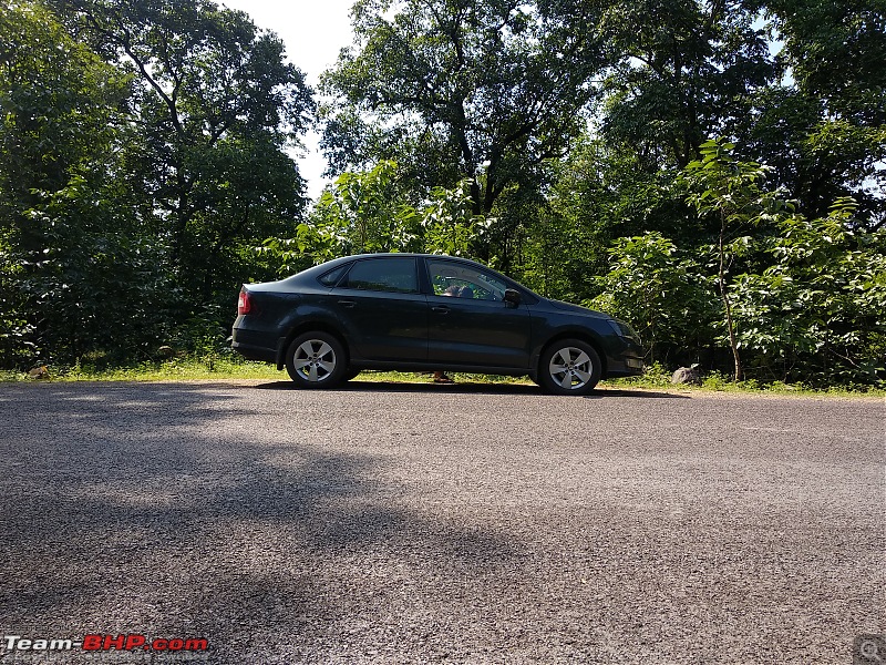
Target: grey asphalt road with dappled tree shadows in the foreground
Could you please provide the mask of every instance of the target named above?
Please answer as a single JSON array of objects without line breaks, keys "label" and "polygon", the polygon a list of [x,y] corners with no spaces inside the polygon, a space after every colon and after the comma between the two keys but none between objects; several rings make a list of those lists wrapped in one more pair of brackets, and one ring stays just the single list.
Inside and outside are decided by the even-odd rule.
[{"label": "grey asphalt road with dappled tree shadows in the foreground", "polygon": [[0,662],[849,664],[885,407],[0,385]]}]

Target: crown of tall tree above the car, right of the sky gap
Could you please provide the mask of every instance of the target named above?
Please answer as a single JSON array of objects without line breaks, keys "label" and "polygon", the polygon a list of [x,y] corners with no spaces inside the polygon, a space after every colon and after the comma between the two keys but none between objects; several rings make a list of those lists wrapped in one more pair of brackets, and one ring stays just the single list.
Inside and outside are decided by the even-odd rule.
[{"label": "crown of tall tree above the car, right of the sky gap", "polygon": [[540,164],[581,129],[606,63],[591,11],[406,0],[389,16],[389,4],[354,6],[357,48],[324,76],[336,95],[324,110],[332,164],[395,158],[425,191],[467,180],[473,214],[484,216],[508,187],[537,188]]}]

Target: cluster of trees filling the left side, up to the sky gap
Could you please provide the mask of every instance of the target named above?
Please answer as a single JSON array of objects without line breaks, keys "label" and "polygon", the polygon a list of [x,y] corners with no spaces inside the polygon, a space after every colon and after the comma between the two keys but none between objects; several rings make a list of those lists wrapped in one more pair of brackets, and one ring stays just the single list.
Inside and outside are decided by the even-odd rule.
[{"label": "cluster of trees filling the left side, up to the sky gap", "polygon": [[285,149],[311,93],[281,42],[205,1],[25,0],[0,28],[2,361],[226,324],[306,206]]}]

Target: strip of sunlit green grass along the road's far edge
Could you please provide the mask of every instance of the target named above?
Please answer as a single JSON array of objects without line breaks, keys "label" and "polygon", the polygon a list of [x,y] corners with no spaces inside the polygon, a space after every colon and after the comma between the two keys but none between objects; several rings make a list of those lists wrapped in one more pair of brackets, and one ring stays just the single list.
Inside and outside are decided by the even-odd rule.
[{"label": "strip of sunlit green grass along the road's far edge", "polygon": [[[289,380],[286,371],[277,371],[272,365],[251,362],[236,357],[215,358],[173,358],[164,361],[141,362],[127,367],[96,368],[89,365],[72,367],[48,367],[50,381],[200,381],[226,379],[254,379],[269,381]],[[527,377],[504,377],[450,372],[461,383],[516,383],[532,385]],[[761,383],[756,380],[733,382],[720,372],[704,375],[700,386],[673,386],[671,374],[661,366],[655,365],[640,377],[610,379],[600,383],[601,389],[639,388],[646,390],[678,390],[688,392],[738,392],[752,395],[799,395],[799,396],[839,396],[839,397],[886,397],[886,389],[870,386],[834,386],[826,389],[813,388],[802,383],[783,383],[774,381]],[[364,371],[361,381],[387,381],[398,383],[426,383],[431,377],[426,374],[399,371]],[[27,372],[0,370],[0,381],[37,382]]]}]

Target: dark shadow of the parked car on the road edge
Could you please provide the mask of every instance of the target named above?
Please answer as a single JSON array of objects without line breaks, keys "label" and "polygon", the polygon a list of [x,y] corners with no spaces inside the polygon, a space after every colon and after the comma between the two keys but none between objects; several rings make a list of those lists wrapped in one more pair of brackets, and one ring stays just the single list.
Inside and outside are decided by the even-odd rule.
[{"label": "dark shadow of the parked car on the road edge", "polygon": [[[292,381],[270,381],[253,386],[259,390],[301,390]],[[538,386],[526,383],[491,383],[483,381],[460,381],[456,383],[403,383],[399,381],[360,381],[352,380],[332,391],[338,392],[411,392],[444,395],[526,395],[535,397],[558,397],[545,393]],[[612,397],[637,397],[646,399],[690,399],[688,395],[661,392],[637,388],[598,388],[585,399],[607,399]]]}]

